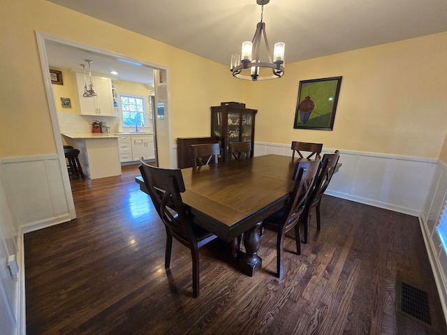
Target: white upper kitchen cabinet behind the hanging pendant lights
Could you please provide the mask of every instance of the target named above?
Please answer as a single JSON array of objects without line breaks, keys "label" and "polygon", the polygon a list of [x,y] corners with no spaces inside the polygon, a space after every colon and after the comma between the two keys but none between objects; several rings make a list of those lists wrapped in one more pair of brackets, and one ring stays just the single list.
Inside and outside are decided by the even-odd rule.
[{"label": "white upper kitchen cabinet behind the hanging pendant lights", "polygon": [[[87,80],[89,80],[88,77]],[[92,76],[92,82],[94,90],[98,96],[85,98],[82,96],[85,89],[84,74],[76,73],[80,114],[101,117],[116,117],[116,110],[113,107],[112,80],[110,80],[110,78],[95,75]]]}]

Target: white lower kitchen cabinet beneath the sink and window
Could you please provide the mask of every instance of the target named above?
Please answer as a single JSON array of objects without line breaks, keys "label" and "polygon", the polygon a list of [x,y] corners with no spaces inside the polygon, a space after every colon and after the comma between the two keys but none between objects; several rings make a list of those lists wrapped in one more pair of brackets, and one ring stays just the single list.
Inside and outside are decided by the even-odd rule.
[{"label": "white lower kitchen cabinet beneath the sink and window", "polygon": [[120,135],[118,147],[122,163],[155,159],[154,135]]}]

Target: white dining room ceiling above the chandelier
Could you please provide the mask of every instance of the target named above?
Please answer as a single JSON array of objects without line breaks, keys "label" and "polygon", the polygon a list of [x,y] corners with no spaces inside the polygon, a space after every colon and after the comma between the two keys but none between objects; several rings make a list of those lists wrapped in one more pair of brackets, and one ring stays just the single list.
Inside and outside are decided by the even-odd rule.
[{"label": "white dining room ceiling above the chandelier", "polygon": [[[228,66],[261,20],[256,0],[49,1]],[[270,0],[263,22],[287,65],[447,31],[447,1]]]}]

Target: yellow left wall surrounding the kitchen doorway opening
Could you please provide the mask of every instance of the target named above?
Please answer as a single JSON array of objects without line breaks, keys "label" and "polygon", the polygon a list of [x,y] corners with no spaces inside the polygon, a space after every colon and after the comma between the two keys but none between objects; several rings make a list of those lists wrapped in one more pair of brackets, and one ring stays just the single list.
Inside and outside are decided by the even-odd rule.
[{"label": "yellow left wall surrounding the kitchen doorway opening", "polygon": [[210,106],[244,100],[227,66],[151,38],[44,0],[6,1],[2,12],[0,157],[57,151],[36,31],[168,66],[174,138],[210,135]]}]

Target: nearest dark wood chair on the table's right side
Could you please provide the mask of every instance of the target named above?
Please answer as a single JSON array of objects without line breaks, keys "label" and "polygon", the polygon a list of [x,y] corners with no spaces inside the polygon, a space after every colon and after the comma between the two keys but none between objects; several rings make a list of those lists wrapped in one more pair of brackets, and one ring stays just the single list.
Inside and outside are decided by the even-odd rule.
[{"label": "nearest dark wood chair on the table's right side", "polygon": [[305,204],[312,191],[319,165],[320,161],[298,161],[293,176],[295,185],[287,206],[263,221],[263,227],[277,231],[277,276],[279,278],[283,275],[284,236],[292,228],[295,228],[296,252],[298,255],[301,254],[300,225],[298,225],[298,222],[305,211]]}]

